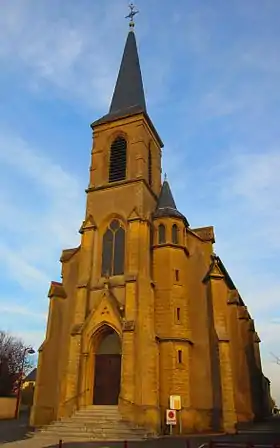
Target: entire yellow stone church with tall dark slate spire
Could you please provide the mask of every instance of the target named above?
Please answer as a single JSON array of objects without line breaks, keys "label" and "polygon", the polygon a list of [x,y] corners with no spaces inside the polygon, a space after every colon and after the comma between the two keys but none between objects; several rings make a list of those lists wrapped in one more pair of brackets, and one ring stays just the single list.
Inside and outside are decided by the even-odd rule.
[{"label": "entire yellow stone church with tall dark slate spire", "polygon": [[213,227],[192,228],[162,181],[133,18],[109,111],[91,128],[80,245],[62,251],[61,282],[50,285],[31,424],[110,405],[160,434],[172,395],[183,433],[263,418],[254,320],[214,252]]}]

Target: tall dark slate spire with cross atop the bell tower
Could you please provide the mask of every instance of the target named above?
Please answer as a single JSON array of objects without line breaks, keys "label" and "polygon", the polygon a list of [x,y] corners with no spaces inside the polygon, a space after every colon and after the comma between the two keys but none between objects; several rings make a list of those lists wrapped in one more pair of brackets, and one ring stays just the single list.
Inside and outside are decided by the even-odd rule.
[{"label": "tall dark slate spire with cross atop the bell tower", "polygon": [[146,111],[142,74],[133,31],[133,17],[138,11],[134,11],[133,4],[130,5],[130,9],[131,12],[127,16],[127,18],[130,18],[130,30],[127,36],[109,114],[127,112],[130,108],[135,107],[143,112]]}]

